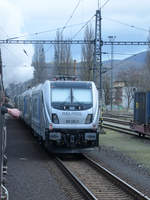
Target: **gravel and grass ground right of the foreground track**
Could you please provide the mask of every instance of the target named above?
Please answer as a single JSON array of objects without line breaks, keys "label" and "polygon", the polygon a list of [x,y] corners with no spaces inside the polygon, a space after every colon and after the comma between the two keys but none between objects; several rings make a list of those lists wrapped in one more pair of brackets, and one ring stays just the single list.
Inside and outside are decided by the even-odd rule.
[{"label": "gravel and grass ground right of the foreground track", "polygon": [[100,135],[100,151],[89,155],[150,197],[150,140],[107,131]]}]

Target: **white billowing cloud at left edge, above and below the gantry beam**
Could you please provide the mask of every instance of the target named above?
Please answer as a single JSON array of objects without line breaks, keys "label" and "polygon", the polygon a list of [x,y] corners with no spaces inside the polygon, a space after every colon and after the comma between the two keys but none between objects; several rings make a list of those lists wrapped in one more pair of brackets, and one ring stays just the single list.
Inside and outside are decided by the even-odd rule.
[{"label": "white billowing cloud at left edge, above and below the gantry beam", "polygon": [[[13,34],[21,34],[23,16],[21,10],[8,0],[0,1],[0,36],[10,38]],[[1,45],[4,65],[4,84],[23,82],[33,76],[31,67],[33,47],[31,45]],[[25,54],[24,50],[27,52]]]}]

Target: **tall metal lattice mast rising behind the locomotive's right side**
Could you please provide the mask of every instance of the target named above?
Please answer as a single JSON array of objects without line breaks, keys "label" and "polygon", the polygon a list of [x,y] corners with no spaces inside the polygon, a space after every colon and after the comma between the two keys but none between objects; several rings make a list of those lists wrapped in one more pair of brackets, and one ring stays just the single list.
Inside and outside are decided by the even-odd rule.
[{"label": "tall metal lattice mast rising behind the locomotive's right side", "polygon": [[94,43],[94,66],[93,81],[99,89],[100,102],[102,100],[102,40],[101,40],[101,9],[96,11],[95,20],[95,43]]}]

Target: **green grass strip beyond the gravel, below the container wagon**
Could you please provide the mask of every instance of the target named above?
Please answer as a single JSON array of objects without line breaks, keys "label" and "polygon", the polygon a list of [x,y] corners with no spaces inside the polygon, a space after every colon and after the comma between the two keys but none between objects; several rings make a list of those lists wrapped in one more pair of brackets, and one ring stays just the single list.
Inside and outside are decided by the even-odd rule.
[{"label": "green grass strip beyond the gravel, below the container wagon", "polygon": [[106,130],[100,135],[100,145],[113,147],[150,169],[150,142],[145,139]]}]

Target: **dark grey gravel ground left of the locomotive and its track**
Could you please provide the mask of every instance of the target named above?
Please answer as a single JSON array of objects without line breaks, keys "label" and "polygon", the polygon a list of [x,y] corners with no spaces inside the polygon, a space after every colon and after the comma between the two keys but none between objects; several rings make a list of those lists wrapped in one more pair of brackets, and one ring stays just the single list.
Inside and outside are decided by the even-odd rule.
[{"label": "dark grey gravel ground left of the locomotive and its track", "polygon": [[[8,121],[7,188],[11,200],[67,200],[48,170],[50,158],[17,120]],[[21,131],[20,131],[21,130]]]}]

